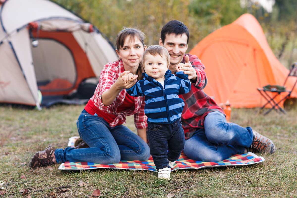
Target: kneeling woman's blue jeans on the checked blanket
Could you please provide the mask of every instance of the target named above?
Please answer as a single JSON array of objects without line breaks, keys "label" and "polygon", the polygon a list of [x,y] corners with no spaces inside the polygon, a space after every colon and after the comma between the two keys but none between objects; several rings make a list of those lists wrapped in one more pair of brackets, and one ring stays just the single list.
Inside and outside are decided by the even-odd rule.
[{"label": "kneeling woman's blue jeans on the checked blanket", "polygon": [[126,126],[110,127],[109,123],[97,115],[83,110],[77,121],[80,137],[90,148],[56,149],[58,163],[65,161],[114,164],[120,160],[148,160],[149,145]]}]

